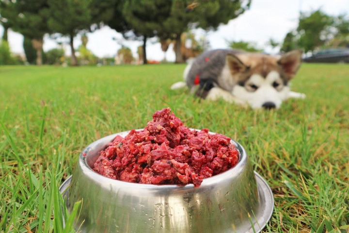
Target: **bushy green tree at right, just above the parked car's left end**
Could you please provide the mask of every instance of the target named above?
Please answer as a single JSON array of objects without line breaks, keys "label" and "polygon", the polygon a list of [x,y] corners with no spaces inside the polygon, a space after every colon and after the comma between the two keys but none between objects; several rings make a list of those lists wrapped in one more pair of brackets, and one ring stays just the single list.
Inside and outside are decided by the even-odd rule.
[{"label": "bushy green tree at right, just above the parked car's left end", "polygon": [[300,35],[298,46],[304,52],[313,51],[329,39],[329,27],[333,24],[333,18],[320,10],[309,14],[301,13],[297,32]]}]

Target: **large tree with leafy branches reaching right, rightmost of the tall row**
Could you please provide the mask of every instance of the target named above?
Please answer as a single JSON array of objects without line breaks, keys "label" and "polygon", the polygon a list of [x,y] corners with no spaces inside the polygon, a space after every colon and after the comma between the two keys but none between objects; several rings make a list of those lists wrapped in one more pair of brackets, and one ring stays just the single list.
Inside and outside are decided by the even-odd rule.
[{"label": "large tree with leafy branches reaching right, rightmost of the tall row", "polygon": [[189,3],[187,0],[172,0],[171,12],[159,31],[160,38],[171,38],[175,42],[176,63],[182,63],[181,34],[190,28],[216,30],[249,9],[251,0],[201,0]]}]

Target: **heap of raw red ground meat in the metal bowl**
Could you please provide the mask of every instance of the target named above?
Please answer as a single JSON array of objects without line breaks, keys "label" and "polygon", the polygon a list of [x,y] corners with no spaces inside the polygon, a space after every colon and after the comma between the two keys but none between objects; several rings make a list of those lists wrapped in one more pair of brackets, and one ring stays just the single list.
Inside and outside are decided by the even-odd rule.
[{"label": "heap of raw red ground meat in the metal bowl", "polygon": [[217,175],[238,163],[238,151],[222,134],[190,130],[164,108],[142,131],[116,136],[100,152],[94,170],[111,179],[152,184],[193,183]]}]

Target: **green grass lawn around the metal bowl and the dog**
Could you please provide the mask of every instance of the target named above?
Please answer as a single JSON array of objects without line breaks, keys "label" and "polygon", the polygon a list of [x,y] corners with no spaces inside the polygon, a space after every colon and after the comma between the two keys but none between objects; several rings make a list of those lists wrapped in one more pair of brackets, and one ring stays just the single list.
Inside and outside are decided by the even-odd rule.
[{"label": "green grass lawn around the metal bowl and the dog", "polygon": [[303,64],[292,89],[307,98],[276,111],[170,90],[184,67],[0,67],[0,232],[63,232],[58,187],[79,152],[164,107],[245,147],[275,198],[265,232],[349,232],[348,65]]}]

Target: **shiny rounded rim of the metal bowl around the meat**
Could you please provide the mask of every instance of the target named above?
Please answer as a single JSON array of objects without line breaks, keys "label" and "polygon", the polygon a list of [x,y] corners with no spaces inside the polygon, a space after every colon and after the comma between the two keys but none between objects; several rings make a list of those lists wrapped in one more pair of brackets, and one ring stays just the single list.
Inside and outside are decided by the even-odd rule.
[{"label": "shiny rounded rim of the metal bowl around the meat", "polygon": [[[199,129],[192,129],[189,128],[190,130],[196,130],[196,131],[201,131]],[[136,131],[141,131],[144,129],[137,129]],[[128,134],[130,131],[123,131],[123,132],[119,132],[119,133],[113,133],[110,135],[107,135],[105,137],[102,137],[96,141],[94,141],[93,143],[91,143],[90,145],[88,145],[84,150],[81,151],[80,155],[79,155],[79,160],[78,160],[78,164],[80,166],[80,169],[82,170],[82,173],[85,174],[86,176],[89,176],[89,178],[91,178],[92,180],[94,180],[97,183],[108,183],[110,185],[117,185],[120,188],[142,188],[142,189],[149,189],[149,190],[162,190],[162,189],[190,189],[190,188],[195,188],[195,189],[199,189],[200,187],[204,187],[207,185],[211,185],[211,184],[215,184],[218,181],[222,181],[222,179],[229,179],[232,175],[234,175],[236,172],[238,172],[239,170],[241,170],[241,168],[243,166],[246,166],[247,163],[247,153],[246,150],[243,148],[243,146],[241,144],[239,144],[237,141],[231,139],[231,143],[236,147],[236,149],[238,150],[238,163],[229,168],[228,170],[205,178],[203,179],[203,182],[201,183],[200,186],[198,187],[194,187],[194,184],[189,183],[186,185],[180,185],[180,184],[148,184],[148,183],[131,183],[131,182],[126,182],[126,181],[120,181],[120,180],[114,180],[111,179],[109,177],[103,176],[97,172],[95,172],[87,163],[87,158],[88,158],[88,154],[91,150],[93,150],[96,146],[99,146],[102,143],[105,143],[106,141],[111,142],[114,140],[114,138],[117,135],[120,134]],[[210,134],[216,134],[214,132],[208,132]],[[108,143],[107,142],[107,143]],[[107,146],[107,145],[106,145]],[[105,149],[103,149],[105,150]],[[85,155],[84,155],[85,154]]]}]

